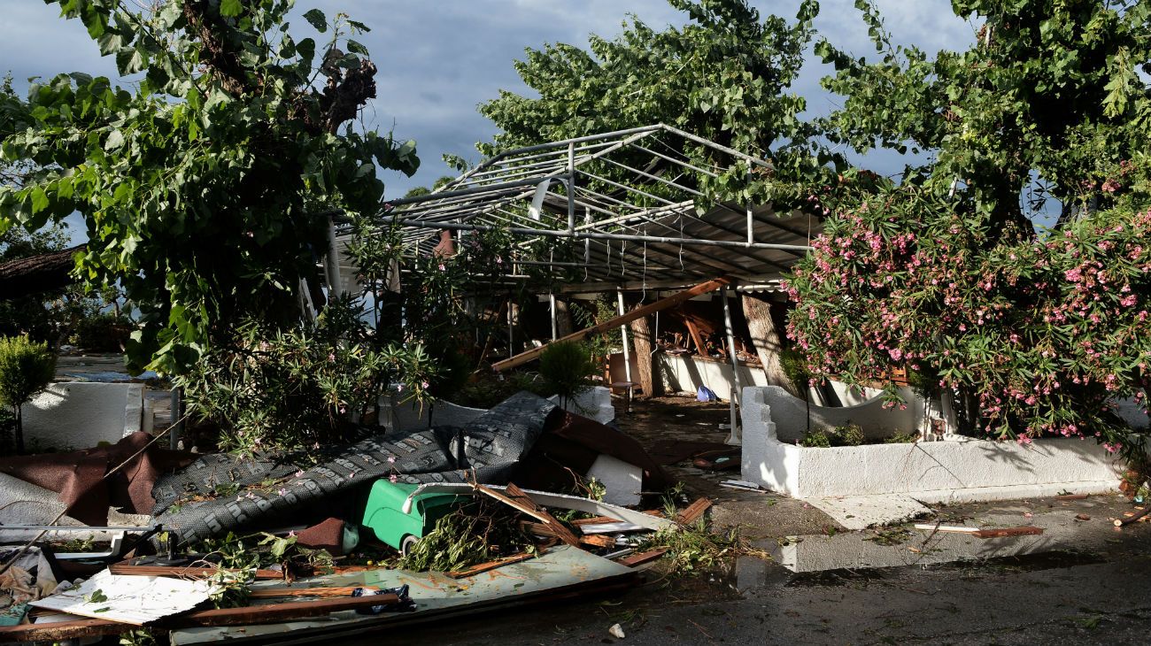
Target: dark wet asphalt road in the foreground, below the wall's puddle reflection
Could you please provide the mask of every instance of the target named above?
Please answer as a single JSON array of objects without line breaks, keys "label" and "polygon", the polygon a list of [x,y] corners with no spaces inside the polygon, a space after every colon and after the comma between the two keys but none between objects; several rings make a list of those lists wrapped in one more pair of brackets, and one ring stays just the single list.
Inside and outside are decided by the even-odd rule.
[{"label": "dark wet asphalt road in the foreground, below the wall's puddle reflection", "polygon": [[[1120,533],[1108,524],[1099,516],[1083,523],[1070,551],[981,562],[795,575],[745,559],[612,599],[486,616],[411,638],[458,646],[1151,644],[1151,525]],[[617,622],[623,640],[608,633]]]}]

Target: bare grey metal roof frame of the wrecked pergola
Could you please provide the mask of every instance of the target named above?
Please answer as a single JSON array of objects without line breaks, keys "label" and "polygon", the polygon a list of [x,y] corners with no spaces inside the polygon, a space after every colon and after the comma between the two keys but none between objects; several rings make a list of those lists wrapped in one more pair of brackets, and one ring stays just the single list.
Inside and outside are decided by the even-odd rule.
[{"label": "bare grey metal roof frame of the wrecked pergola", "polygon": [[[388,201],[374,220],[398,224],[413,253],[430,253],[441,231],[500,229],[520,240],[519,249],[541,239],[566,243],[558,261],[511,259],[509,278],[525,266],[550,267],[561,282],[582,270],[596,284],[650,277],[685,285],[718,275],[770,284],[810,249],[811,217],[708,201],[701,179],[735,164],[771,168],[670,125],[632,128],[505,151],[428,194]],[[337,224],[333,236],[346,238],[348,230]]]}]

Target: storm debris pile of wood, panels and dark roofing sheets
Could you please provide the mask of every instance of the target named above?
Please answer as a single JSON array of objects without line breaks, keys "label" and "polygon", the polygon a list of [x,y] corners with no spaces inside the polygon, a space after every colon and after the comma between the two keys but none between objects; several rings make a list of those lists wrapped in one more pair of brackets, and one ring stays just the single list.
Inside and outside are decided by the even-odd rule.
[{"label": "storm debris pile of wood, panels and dark roofing sheets", "polygon": [[[258,641],[285,622],[294,636],[335,639],[623,590],[669,552],[691,562],[726,549],[708,538],[707,499],[685,506],[672,490],[660,508],[604,501],[610,492],[587,475],[602,456],[626,468],[634,482],[616,482],[637,500],[664,486],[660,466],[619,431],[528,393],[464,428],[373,434],[310,456],[241,461],[150,439],[49,457],[61,474],[83,467],[32,483],[55,489],[54,517],[0,517],[0,641],[140,630],[171,644]],[[0,461],[0,472],[43,472],[37,460]],[[96,524],[115,507],[137,525]],[[68,536],[81,538],[52,543]]]}]

